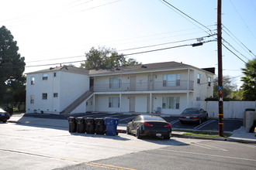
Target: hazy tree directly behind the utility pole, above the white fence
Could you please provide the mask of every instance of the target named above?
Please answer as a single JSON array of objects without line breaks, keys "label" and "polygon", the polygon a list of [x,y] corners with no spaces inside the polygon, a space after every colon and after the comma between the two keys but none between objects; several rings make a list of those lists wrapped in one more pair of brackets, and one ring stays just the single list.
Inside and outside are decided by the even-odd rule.
[{"label": "hazy tree directly behind the utility pole, above the white fence", "polygon": [[[237,90],[237,85],[230,76],[223,76],[223,98],[230,97],[231,92]],[[218,77],[213,79],[213,97],[219,96]]]}]

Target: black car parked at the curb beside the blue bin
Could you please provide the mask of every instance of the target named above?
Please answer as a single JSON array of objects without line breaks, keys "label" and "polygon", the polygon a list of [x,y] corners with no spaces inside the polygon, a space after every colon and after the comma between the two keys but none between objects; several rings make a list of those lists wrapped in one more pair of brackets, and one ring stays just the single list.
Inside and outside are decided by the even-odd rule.
[{"label": "black car parked at the curb beside the blue bin", "polygon": [[127,124],[126,134],[135,134],[137,138],[151,136],[170,139],[171,124],[164,121],[162,117],[139,115]]}]

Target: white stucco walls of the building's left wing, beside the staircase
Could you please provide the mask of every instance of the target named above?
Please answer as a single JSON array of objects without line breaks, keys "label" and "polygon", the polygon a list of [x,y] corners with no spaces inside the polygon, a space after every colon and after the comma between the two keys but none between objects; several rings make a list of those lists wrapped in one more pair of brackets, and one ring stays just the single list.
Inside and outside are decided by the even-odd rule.
[{"label": "white stucco walls of the building's left wing, beside the staircase", "polygon": [[[89,89],[89,78],[87,75],[68,73],[57,70],[45,72],[47,80],[43,80],[43,73],[28,74],[26,81],[26,113],[60,114],[65,107],[81,96]],[[54,73],[58,73],[54,76]],[[31,76],[35,77],[35,84],[31,85]],[[47,100],[43,100],[42,93],[47,93]],[[58,93],[58,97],[54,97]],[[34,95],[34,104],[30,104],[30,95]],[[72,113],[84,113],[85,104],[81,104]]]}]

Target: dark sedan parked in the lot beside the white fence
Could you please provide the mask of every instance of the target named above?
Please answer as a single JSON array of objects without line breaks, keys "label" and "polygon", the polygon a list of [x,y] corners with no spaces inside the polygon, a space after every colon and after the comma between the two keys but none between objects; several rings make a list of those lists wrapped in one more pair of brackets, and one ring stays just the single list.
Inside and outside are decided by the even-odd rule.
[{"label": "dark sedan parked in the lot beside the white fence", "polygon": [[203,120],[208,118],[208,113],[200,108],[187,108],[182,114],[179,115],[179,121],[181,123],[185,122],[197,122],[202,124]]}]

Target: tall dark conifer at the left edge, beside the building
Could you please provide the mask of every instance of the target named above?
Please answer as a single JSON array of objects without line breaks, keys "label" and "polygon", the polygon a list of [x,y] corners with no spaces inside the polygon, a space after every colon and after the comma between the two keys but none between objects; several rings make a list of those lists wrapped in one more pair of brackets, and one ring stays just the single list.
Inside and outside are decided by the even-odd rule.
[{"label": "tall dark conifer at the left edge, beside the building", "polygon": [[[0,28],[0,104],[16,104],[26,98],[25,58],[20,57],[19,47],[11,32]],[[24,96],[25,95],[25,96]]]}]

